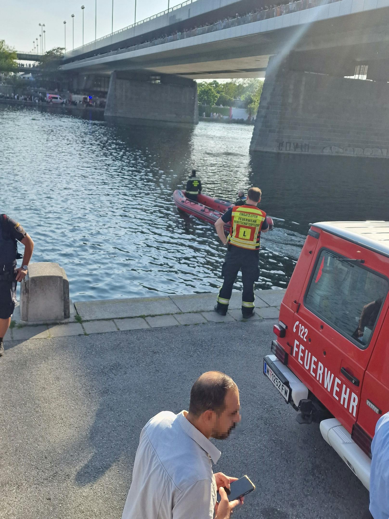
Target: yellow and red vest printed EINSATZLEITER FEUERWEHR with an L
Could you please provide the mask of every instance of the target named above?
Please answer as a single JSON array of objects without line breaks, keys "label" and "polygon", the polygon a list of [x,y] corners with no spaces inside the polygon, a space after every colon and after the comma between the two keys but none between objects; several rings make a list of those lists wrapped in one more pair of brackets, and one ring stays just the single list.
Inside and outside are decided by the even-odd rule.
[{"label": "yellow and red vest printed EINSATZLEITER FEUERWEHR with an L", "polygon": [[234,206],[227,241],[242,249],[259,249],[261,228],[265,220],[266,213],[255,206]]}]

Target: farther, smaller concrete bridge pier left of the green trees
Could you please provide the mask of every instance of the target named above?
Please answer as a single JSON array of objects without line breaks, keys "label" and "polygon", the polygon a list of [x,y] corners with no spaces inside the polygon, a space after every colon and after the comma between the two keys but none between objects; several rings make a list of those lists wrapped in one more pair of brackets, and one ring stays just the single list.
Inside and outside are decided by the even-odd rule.
[{"label": "farther, smaller concrete bridge pier left of the green trees", "polygon": [[196,81],[170,75],[113,72],[105,118],[127,124],[197,124]]}]

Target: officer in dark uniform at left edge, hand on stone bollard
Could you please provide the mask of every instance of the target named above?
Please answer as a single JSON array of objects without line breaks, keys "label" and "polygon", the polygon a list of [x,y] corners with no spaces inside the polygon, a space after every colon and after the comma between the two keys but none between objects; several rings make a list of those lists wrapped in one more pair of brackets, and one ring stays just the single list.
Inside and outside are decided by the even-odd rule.
[{"label": "officer in dark uniform at left edge, hand on stone bollard", "polygon": [[[23,262],[19,268],[16,268],[17,240],[24,245]],[[34,242],[20,223],[0,214],[0,357],[4,354],[3,337],[15,309],[16,284],[27,275],[33,249]]]}]

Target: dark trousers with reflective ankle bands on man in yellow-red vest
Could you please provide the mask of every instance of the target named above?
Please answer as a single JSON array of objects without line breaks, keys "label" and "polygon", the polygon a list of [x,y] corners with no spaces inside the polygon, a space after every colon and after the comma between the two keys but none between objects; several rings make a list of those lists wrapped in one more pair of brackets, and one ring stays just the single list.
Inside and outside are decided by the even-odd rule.
[{"label": "dark trousers with reflective ankle bands on man in yellow-red vest", "polygon": [[226,259],[221,267],[221,277],[224,278],[218,298],[218,309],[228,309],[232,294],[233,284],[237,279],[239,270],[242,271],[243,293],[242,314],[251,315],[254,310],[254,283],[259,278],[259,250],[247,250],[235,245],[228,245]]}]

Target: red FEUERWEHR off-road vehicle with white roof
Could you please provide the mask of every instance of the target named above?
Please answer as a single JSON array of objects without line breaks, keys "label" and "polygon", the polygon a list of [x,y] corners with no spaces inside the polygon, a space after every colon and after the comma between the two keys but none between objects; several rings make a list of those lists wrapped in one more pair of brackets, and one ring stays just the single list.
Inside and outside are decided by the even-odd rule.
[{"label": "red FEUERWEHR off-road vehicle with white roof", "polygon": [[369,489],[389,411],[389,222],[311,224],[263,373]]}]

